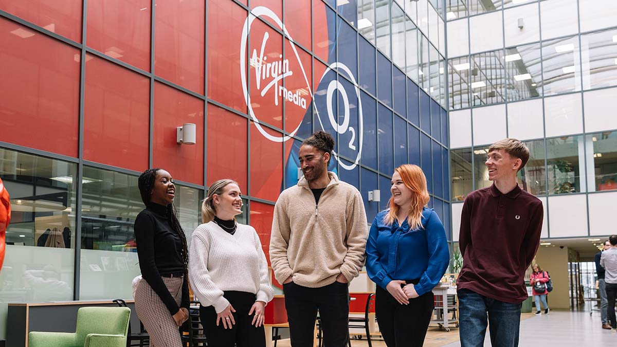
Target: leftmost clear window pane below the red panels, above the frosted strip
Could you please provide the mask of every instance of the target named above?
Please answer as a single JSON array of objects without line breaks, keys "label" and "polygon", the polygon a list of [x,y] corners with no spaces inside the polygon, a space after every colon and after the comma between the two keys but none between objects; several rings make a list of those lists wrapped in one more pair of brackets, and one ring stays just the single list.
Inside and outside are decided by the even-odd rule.
[{"label": "leftmost clear window pane below the red panels, above the frosted strip", "polygon": [[76,164],[0,149],[0,177],[12,209],[7,245],[75,245]]}]

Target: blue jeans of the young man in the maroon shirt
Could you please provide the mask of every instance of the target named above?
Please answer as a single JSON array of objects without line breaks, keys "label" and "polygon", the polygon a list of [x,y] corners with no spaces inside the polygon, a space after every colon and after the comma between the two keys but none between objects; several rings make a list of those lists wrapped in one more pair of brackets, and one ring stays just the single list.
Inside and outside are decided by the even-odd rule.
[{"label": "blue jeans of the young man in the maroon shirt", "polygon": [[505,303],[467,289],[458,290],[457,295],[461,347],[484,346],[487,323],[493,347],[518,346],[521,304]]}]

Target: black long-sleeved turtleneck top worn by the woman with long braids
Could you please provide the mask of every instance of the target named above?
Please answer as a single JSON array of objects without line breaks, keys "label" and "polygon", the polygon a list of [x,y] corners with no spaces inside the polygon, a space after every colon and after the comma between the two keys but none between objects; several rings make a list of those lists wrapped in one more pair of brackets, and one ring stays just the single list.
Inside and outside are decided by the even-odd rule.
[{"label": "black long-sleeved turtleneck top worn by the woman with long braids", "polygon": [[184,276],[180,307],[165,286],[161,275],[182,274],[182,240],[173,230],[167,206],[149,203],[135,219],[135,242],[141,276],[152,287],[172,316],[180,307],[189,307],[188,278]]}]

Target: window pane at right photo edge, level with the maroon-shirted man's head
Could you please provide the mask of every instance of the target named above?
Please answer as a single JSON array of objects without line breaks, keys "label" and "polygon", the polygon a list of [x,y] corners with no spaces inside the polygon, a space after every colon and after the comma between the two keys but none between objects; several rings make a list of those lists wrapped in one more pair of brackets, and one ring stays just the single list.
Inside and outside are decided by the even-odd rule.
[{"label": "window pane at right photo edge, level with the maroon-shirted man's head", "polygon": [[589,191],[617,190],[617,132],[590,134],[586,142],[587,162],[592,165],[587,172],[594,175]]}]

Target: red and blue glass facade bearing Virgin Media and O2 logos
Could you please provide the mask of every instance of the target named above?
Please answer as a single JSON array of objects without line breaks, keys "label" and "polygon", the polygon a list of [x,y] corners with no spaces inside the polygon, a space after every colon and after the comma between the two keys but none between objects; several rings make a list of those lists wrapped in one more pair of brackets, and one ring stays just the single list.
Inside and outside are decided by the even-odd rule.
[{"label": "red and blue glass facade bearing Virgin Media and O2 logos", "polygon": [[[323,129],[367,224],[412,162],[449,230],[442,1],[30,2],[0,0],[0,175],[15,206],[0,338],[8,302],[130,298],[148,167],[175,178],[188,236],[207,185],[237,180],[267,252],[299,145]],[[184,123],[196,144],[176,143]]]}]

